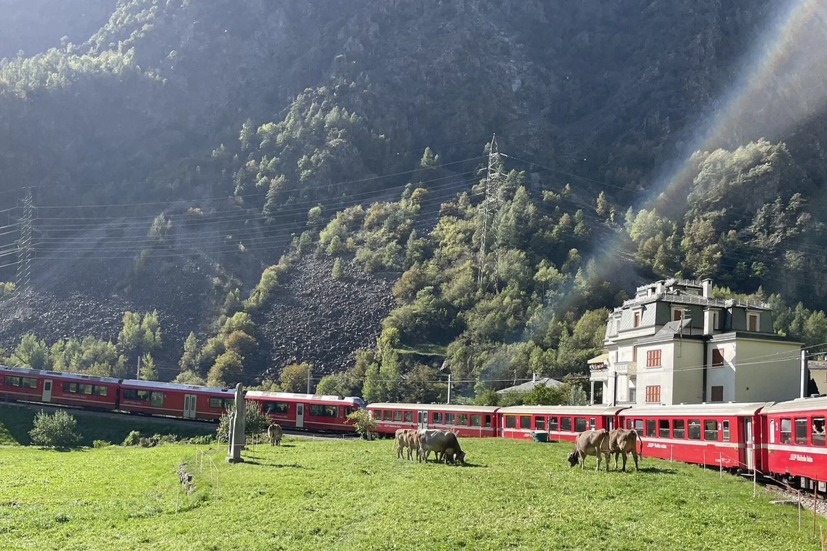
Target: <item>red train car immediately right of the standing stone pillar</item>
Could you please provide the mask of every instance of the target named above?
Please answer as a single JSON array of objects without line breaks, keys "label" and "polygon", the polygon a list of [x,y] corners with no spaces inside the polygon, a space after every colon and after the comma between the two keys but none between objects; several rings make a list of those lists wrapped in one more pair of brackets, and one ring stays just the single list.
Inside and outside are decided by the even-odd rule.
[{"label": "red train car immediately right of the standing stone pillar", "polygon": [[361,398],[315,396],[294,392],[249,391],[246,399],[284,428],[352,432],[347,416],[365,406]]}]

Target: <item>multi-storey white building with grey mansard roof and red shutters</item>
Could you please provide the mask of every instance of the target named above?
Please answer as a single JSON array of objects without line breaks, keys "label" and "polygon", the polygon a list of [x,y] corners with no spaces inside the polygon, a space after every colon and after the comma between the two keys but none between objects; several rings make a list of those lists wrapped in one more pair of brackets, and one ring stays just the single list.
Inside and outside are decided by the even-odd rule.
[{"label": "multi-storey white building with grey mansard roof and red shutters", "polygon": [[602,361],[590,362],[592,401],[595,395],[605,405],[799,397],[801,343],[775,334],[767,304],[715,299],[712,288],[710,279],[638,287],[609,315]]}]

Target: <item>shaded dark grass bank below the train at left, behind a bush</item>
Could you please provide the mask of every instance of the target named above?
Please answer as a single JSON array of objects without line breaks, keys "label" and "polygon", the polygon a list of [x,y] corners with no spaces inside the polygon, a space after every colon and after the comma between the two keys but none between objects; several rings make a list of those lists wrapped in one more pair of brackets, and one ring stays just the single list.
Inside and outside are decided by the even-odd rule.
[{"label": "shaded dark grass bank below the train at left, behind a bush", "polygon": [[[29,430],[35,419],[37,408],[22,406],[0,406],[0,445],[28,445]],[[131,430],[141,435],[179,435],[189,438],[198,435],[214,435],[217,425],[211,423],[179,423],[174,420],[152,420],[140,416],[102,416],[88,411],[69,410],[78,420],[81,444],[91,446],[93,440],[108,440],[120,444]],[[2,480],[2,474],[0,474]],[[2,549],[2,546],[0,546]]]}]

